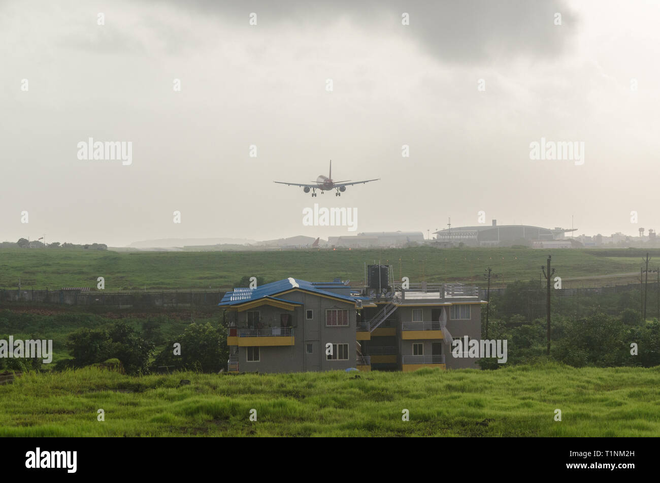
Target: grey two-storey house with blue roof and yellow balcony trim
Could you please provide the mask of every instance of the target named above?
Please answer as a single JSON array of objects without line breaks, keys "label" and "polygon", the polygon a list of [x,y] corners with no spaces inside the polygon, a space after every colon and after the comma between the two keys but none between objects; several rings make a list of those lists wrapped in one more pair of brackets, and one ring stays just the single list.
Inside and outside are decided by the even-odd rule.
[{"label": "grey two-storey house with blue roof and yellow balcony trim", "polygon": [[[401,286],[391,266],[370,265],[368,286],[285,278],[234,288],[220,304],[230,372],[478,368],[451,340],[480,340],[479,289]],[[467,339],[465,338],[467,337]]]}]

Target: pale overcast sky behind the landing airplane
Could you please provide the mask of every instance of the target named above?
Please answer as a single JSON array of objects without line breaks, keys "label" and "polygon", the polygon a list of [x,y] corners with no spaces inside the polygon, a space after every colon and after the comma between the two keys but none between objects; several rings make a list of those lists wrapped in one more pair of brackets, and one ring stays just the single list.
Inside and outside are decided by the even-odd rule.
[{"label": "pale overcast sky behind the landing airplane", "polygon": [[[0,0],[0,241],[356,233],[303,226],[314,203],[357,209],[357,232],[481,210],[660,229],[657,1],[309,3]],[[130,141],[132,164],[79,160],[89,137]],[[583,142],[583,164],[531,160],[542,137]],[[330,159],[334,179],[381,179],[273,183]]]}]

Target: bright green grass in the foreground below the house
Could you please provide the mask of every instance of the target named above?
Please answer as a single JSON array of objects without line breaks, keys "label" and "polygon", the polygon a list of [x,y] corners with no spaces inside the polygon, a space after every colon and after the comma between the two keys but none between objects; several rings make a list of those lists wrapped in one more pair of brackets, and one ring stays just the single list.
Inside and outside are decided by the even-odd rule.
[{"label": "bright green grass in the foreground below the house", "polygon": [[357,374],[28,374],[0,386],[0,435],[660,435],[660,367]]}]

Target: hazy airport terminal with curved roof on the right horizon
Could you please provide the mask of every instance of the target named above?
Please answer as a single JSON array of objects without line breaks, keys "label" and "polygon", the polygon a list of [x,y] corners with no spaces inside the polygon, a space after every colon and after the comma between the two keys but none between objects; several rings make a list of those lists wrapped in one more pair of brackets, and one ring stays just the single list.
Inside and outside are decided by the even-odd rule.
[{"label": "hazy airport terminal with curved roof on the right horizon", "polygon": [[490,247],[529,245],[535,242],[562,240],[567,232],[574,232],[578,228],[541,228],[530,225],[498,225],[492,220],[492,225],[459,226],[434,232],[434,244],[463,245],[469,247]]}]

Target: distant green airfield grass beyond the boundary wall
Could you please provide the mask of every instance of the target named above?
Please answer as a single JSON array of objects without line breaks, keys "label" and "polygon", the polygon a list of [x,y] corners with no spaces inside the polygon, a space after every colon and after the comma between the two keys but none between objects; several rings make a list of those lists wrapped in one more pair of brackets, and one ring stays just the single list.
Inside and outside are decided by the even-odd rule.
[{"label": "distant green airfield grass beyond the boundary wall", "polygon": [[[600,286],[636,282],[642,250],[414,247],[407,249],[339,249],[337,251],[200,251],[131,252],[84,249],[0,249],[0,288],[96,288],[105,278],[106,290],[211,289],[226,290],[243,276],[267,281],[289,276],[356,284],[364,280],[364,263],[391,264],[395,277],[411,282],[460,281],[484,284],[482,274],[492,267],[494,286],[512,280],[539,278],[541,265],[552,254],[556,275],[564,286]],[[660,257],[660,250],[651,250]]]}]

